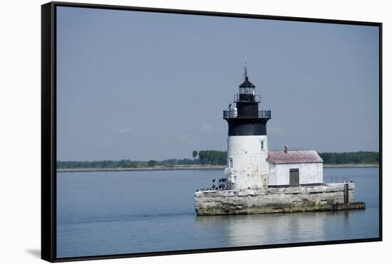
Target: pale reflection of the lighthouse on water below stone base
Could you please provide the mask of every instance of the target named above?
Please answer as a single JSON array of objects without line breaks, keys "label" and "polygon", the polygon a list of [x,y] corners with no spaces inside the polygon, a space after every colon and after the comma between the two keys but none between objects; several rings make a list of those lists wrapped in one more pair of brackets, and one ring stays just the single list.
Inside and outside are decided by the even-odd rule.
[{"label": "pale reflection of the lighthouse on water below stone base", "polygon": [[346,239],[339,234],[351,228],[353,217],[354,211],[201,216],[195,224],[221,233],[234,247]]}]

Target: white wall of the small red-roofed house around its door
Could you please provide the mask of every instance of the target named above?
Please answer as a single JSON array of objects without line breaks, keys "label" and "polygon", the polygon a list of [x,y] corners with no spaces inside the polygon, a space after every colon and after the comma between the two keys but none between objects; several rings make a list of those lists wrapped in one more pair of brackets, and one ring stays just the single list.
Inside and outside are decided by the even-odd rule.
[{"label": "white wall of the small red-roofed house around its door", "polygon": [[321,162],[269,164],[268,185],[289,185],[290,169],[299,169],[299,184],[320,184],[323,182],[323,164]]}]

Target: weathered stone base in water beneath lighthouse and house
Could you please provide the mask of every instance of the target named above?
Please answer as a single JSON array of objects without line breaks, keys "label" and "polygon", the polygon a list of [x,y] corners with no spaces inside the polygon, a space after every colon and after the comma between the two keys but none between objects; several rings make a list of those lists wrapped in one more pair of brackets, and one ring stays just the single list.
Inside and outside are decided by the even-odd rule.
[{"label": "weathered stone base in water beneath lighthouse and house", "polygon": [[354,183],[349,183],[347,202],[344,199],[344,184],[197,191],[195,210],[197,216],[217,216],[365,208],[364,203],[354,203],[354,189]]}]

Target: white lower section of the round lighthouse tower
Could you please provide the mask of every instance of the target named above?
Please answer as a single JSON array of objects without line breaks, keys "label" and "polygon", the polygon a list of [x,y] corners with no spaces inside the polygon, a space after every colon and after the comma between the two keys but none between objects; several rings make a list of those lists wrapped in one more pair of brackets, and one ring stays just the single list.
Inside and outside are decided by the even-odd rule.
[{"label": "white lower section of the round lighthouse tower", "polygon": [[[232,159],[229,181],[234,178],[235,189],[262,187],[269,172],[267,136],[229,136],[227,165]],[[264,178],[264,180],[263,180]]]}]

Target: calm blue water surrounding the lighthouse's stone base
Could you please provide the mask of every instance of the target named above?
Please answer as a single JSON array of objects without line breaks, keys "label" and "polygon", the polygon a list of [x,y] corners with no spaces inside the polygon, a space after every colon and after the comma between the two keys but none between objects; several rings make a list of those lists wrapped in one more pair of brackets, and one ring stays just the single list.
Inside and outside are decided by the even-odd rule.
[{"label": "calm blue water surrounding the lighthouse's stone base", "polygon": [[212,171],[58,173],[58,258],[378,237],[378,168],[324,169],[356,181],[365,211],[197,217]]}]

